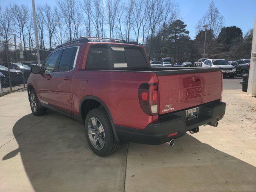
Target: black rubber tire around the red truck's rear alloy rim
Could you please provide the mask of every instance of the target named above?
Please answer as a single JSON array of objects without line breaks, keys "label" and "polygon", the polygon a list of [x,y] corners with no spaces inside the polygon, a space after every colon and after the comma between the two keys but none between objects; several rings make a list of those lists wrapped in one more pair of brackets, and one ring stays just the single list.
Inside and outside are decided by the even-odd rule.
[{"label": "black rubber tire around the red truck's rear alloy rim", "polygon": [[[100,149],[97,149],[92,144],[89,138],[88,126],[90,126],[89,121],[92,118],[96,118],[102,124],[103,130],[104,130],[104,146]],[[106,114],[105,110],[102,108],[93,109],[89,111],[88,114],[86,115],[85,134],[86,134],[88,145],[90,146],[91,150],[98,156],[101,156],[101,157],[109,156],[110,154],[115,153],[120,146],[114,138],[114,134],[112,131],[112,127],[111,127],[108,115]]]}]

